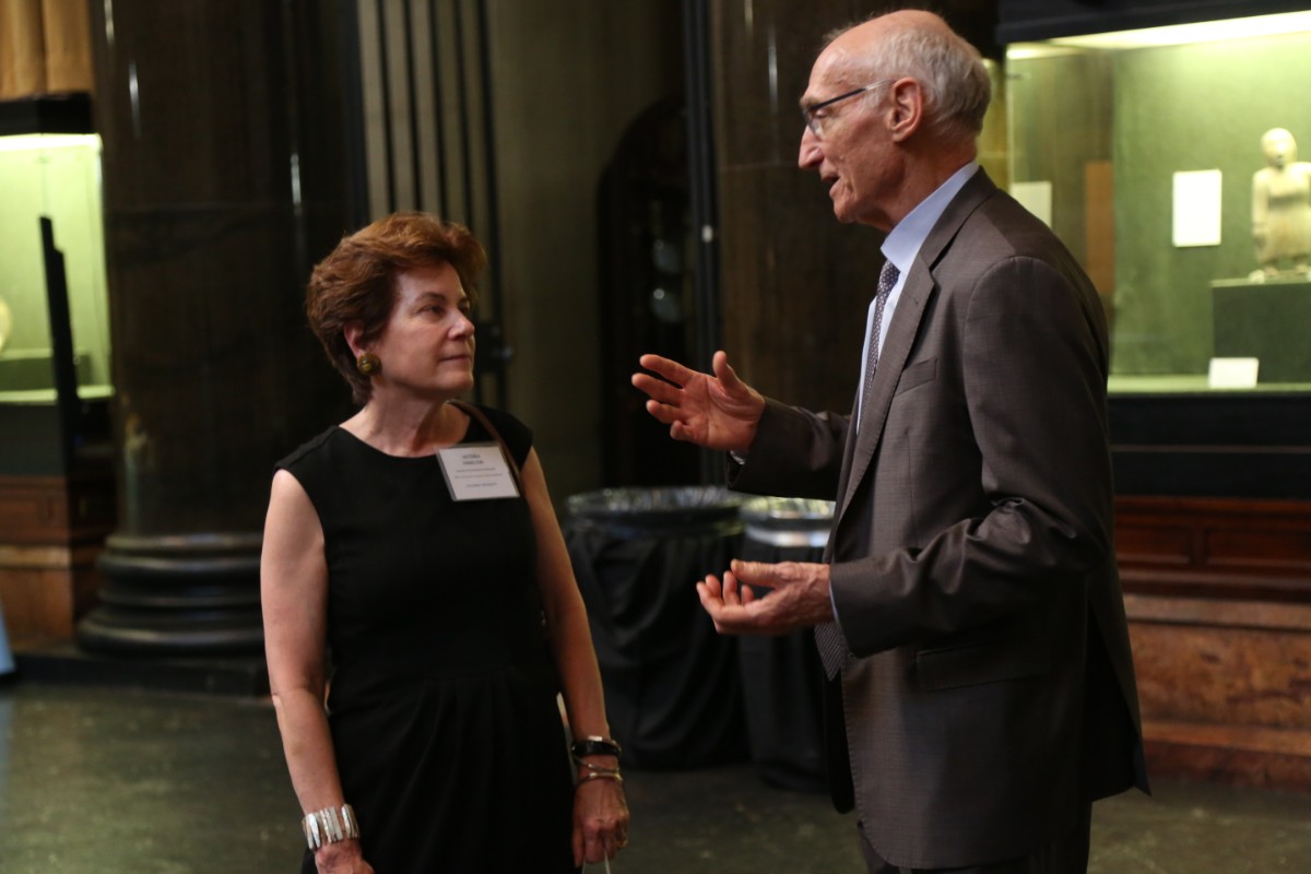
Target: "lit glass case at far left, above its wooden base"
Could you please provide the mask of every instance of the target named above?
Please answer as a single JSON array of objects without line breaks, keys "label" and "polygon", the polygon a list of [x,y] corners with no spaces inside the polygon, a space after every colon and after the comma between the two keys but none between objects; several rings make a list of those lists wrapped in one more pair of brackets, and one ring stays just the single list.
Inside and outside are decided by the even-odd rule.
[{"label": "lit glass case at far left, above its wooden base", "polygon": [[113,394],[85,94],[0,104],[0,473],[63,473]]}]

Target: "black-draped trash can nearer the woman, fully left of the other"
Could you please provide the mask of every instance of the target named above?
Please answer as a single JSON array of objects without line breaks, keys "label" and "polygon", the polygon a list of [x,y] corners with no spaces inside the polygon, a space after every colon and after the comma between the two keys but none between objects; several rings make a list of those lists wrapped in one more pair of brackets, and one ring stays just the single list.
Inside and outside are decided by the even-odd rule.
[{"label": "black-draped trash can nearer the woman, fully left of the other", "polygon": [[635,768],[745,761],[737,638],[716,633],[696,580],[722,575],[743,497],[722,487],[606,489],[566,502],[610,729]]}]

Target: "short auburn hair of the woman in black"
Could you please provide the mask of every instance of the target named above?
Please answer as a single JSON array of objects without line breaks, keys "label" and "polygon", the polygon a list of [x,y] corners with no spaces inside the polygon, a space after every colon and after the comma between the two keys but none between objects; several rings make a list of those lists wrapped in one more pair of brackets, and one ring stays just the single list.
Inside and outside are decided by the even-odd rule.
[{"label": "short auburn hair of the woman in black", "polygon": [[476,303],[473,283],[486,262],[482,245],[463,224],[426,212],[393,212],[342,237],[332,254],[315,265],[305,290],[309,328],[350,384],[357,404],[368,401],[372,383],[355,368],[346,326],[358,324],[363,341],[376,339],[392,316],[397,278],[421,267],[451,265]]}]

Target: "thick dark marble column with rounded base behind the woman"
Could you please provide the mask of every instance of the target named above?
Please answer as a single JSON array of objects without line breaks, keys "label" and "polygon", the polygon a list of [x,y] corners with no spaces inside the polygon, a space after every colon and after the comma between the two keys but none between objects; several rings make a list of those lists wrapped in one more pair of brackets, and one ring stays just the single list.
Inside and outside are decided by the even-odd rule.
[{"label": "thick dark marble column with rounded base behind the woman", "polygon": [[347,400],[303,314],[347,229],[338,4],[90,5],[119,528],[77,641],[258,653],[273,465]]}]

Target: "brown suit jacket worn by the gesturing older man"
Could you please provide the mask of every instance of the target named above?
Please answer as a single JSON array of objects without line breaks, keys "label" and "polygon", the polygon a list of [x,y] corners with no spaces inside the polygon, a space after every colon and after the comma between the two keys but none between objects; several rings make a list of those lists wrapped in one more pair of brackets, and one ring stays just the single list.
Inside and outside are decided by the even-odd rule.
[{"label": "brown suit jacket worn by the gesturing older man", "polygon": [[1024,856],[1147,790],[1106,373],[1083,270],[979,170],[907,273],[859,431],[770,401],[730,474],[836,495],[834,801],[894,865]]}]

